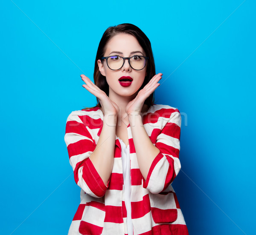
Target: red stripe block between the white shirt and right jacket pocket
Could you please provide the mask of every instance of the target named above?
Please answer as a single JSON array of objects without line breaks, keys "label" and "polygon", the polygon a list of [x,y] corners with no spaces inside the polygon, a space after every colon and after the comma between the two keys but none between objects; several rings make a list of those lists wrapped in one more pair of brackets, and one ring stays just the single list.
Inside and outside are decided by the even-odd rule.
[{"label": "red stripe block between the white shirt and right jacket pocket", "polygon": [[131,202],[131,218],[137,219],[150,212],[149,195],[143,197],[143,201]]}]

